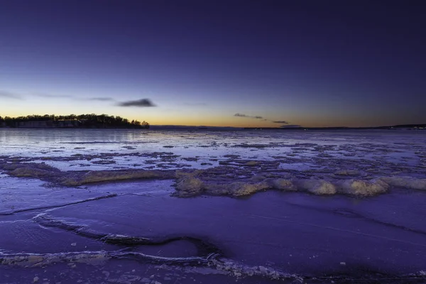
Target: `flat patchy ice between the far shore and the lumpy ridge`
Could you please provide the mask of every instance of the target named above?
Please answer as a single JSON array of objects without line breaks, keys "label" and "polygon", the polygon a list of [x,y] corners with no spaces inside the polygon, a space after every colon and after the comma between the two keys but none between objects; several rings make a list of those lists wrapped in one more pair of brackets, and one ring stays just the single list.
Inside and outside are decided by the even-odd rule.
[{"label": "flat patchy ice between the far shore and the lumpy ridge", "polygon": [[398,175],[424,175],[426,149],[422,134],[408,131],[141,133],[132,130],[28,132],[1,129],[0,144],[1,155],[45,162],[60,170],[206,169],[219,163],[256,167],[256,160],[269,160],[279,165],[278,169],[306,171],[305,174],[321,169],[336,175],[356,172],[361,176],[386,176],[397,172]]}]

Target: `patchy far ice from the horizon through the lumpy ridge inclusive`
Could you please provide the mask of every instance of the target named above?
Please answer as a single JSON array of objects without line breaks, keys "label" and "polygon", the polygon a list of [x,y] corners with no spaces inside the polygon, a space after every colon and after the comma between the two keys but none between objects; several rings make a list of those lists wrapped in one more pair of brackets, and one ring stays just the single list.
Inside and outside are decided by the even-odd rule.
[{"label": "patchy far ice from the horizon through the lumpy ridge inclusive", "polygon": [[0,141],[0,170],[59,186],[170,179],[178,197],[263,190],[368,197],[393,187],[426,190],[426,143],[417,133],[75,131],[26,143],[11,133]]}]

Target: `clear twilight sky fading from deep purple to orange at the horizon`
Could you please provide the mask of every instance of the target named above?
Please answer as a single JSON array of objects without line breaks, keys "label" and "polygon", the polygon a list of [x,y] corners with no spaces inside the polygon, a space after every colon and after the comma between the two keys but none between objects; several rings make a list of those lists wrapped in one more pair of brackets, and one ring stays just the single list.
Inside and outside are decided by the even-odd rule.
[{"label": "clear twilight sky fading from deep purple to orange at the horizon", "polygon": [[426,123],[424,1],[0,0],[0,116]]}]

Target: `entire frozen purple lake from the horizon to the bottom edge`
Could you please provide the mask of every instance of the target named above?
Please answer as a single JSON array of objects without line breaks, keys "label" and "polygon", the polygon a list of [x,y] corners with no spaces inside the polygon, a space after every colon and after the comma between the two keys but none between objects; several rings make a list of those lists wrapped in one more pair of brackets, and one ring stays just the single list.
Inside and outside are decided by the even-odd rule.
[{"label": "entire frozen purple lake from the horizon to the bottom edge", "polygon": [[425,283],[425,216],[426,131],[0,129],[0,283]]}]

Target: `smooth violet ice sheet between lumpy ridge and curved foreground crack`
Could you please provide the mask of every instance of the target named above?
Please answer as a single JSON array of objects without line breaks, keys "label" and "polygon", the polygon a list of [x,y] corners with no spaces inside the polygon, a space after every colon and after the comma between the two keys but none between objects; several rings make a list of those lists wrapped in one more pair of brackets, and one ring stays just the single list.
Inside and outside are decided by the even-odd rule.
[{"label": "smooth violet ice sheet between lumpy ridge and curved foreground crack", "polygon": [[[303,206],[293,205],[295,198],[304,202]],[[197,202],[121,195],[92,202],[90,207],[83,204],[63,207],[48,212],[45,217],[53,221],[56,228],[71,229],[77,236],[94,231],[148,239],[164,240],[182,234],[208,239],[223,253],[217,258],[220,262],[213,262],[209,267],[231,273],[250,273],[255,269],[271,277],[295,274],[305,278],[327,274],[346,275],[350,279],[349,275],[402,277],[423,269],[425,234],[408,230],[410,226],[403,229],[363,217],[362,201],[354,204],[351,197],[326,200],[324,203],[323,197],[297,192],[292,195],[263,192],[249,200],[210,197]],[[386,206],[376,201],[373,212],[381,214]],[[351,204],[351,209],[339,209],[346,207],[346,202]],[[420,209],[423,213],[424,208]],[[402,204],[393,210],[407,214]],[[45,222],[41,224],[49,226]]]}]

